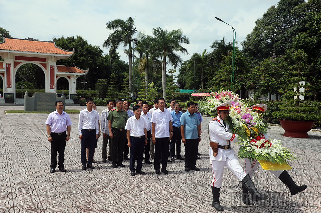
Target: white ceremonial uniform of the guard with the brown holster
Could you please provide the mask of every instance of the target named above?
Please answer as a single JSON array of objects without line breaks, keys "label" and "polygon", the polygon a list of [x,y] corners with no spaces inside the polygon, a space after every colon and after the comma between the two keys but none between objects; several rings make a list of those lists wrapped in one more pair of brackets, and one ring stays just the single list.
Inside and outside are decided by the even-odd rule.
[{"label": "white ceremonial uniform of the guard with the brown holster", "polygon": [[[219,116],[212,119],[209,123],[209,135],[211,141],[217,142],[220,146],[228,146],[229,141],[239,141],[238,135],[230,133],[229,125],[223,124]],[[213,156],[213,150],[210,148],[211,167],[213,171],[212,185],[221,188],[224,166],[227,166],[237,178],[241,181],[245,176],[243,168],[235,156],[234,149],[218,149],[216,157]]]}]

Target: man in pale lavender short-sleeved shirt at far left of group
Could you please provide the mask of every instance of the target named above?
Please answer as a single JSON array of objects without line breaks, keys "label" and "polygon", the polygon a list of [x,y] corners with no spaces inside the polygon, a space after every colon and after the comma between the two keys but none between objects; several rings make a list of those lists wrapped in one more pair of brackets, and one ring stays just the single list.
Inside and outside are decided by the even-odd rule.
[{"label": "man in pale lavender short-sleeved shirt at far left of group", "polygon": [[[51,146],[51,165],[50,173],[55,172],[57,166],[57,152],[58,152],[58,169],[66,172],[64,168],[65,147],[66,142],[69,141],[70,125],[73,124],[67,113],[64,112],[64,103],[62,101],[55,102],[56,111],[48,115],[47,134],[48,141]],[[66,134],[67,131],[67,134]]]}]

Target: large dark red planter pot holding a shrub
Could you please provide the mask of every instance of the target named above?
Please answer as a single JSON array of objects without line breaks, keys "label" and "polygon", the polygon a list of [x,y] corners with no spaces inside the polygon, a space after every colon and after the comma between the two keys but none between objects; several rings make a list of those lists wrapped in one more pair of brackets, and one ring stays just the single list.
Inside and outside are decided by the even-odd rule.
[{"label": "large dark red planter pot holding a shrub", "polygon": [[278,119],[285,130],[283,136],[291,138],[309,138],[308,132],[315,121],[285,121]]}]

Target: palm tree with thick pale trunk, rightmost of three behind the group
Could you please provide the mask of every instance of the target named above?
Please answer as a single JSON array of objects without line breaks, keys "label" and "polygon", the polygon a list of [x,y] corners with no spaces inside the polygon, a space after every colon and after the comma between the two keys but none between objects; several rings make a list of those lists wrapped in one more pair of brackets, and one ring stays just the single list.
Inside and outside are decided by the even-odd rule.
[{"label": "palm tree with thick pale trunk, rightmost of three behind the group", "polygon": [[166,57],[170,64],[176,68],[178,64],[182,64],[182,58],[176,52],[187,53],[187,49],[182,46],[182,43],[189,44],[189,39],[183,35],[181,29],[178,30],[163,30],[161,28],[153,28],[155,37],[156,54],[162,60],[162,87],[163,98],[166,98]]}]

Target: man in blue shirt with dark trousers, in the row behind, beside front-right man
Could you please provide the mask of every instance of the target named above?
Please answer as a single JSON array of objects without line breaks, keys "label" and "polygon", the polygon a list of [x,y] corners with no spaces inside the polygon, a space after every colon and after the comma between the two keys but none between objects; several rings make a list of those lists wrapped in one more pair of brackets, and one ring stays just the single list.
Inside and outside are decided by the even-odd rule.
[{"label": "man in blue shirt with dark trousers, in the row behind, beside front-right man", "polygon": [[180,132],[180,118],[183,115],[181,111],[179,111],[179,103],[175,102],[173,104],[174,110],[171,111],[171,115],[173,117],[172,125],[173,125],[173,137],[170,140],[169,144],[169,153],[170,153],[170,159],[175,160],[175,144],[176,144],[176,158],[180,160],[184,160],[184,158],[180,155],[180,143],[182,141],[182,136]]}]

